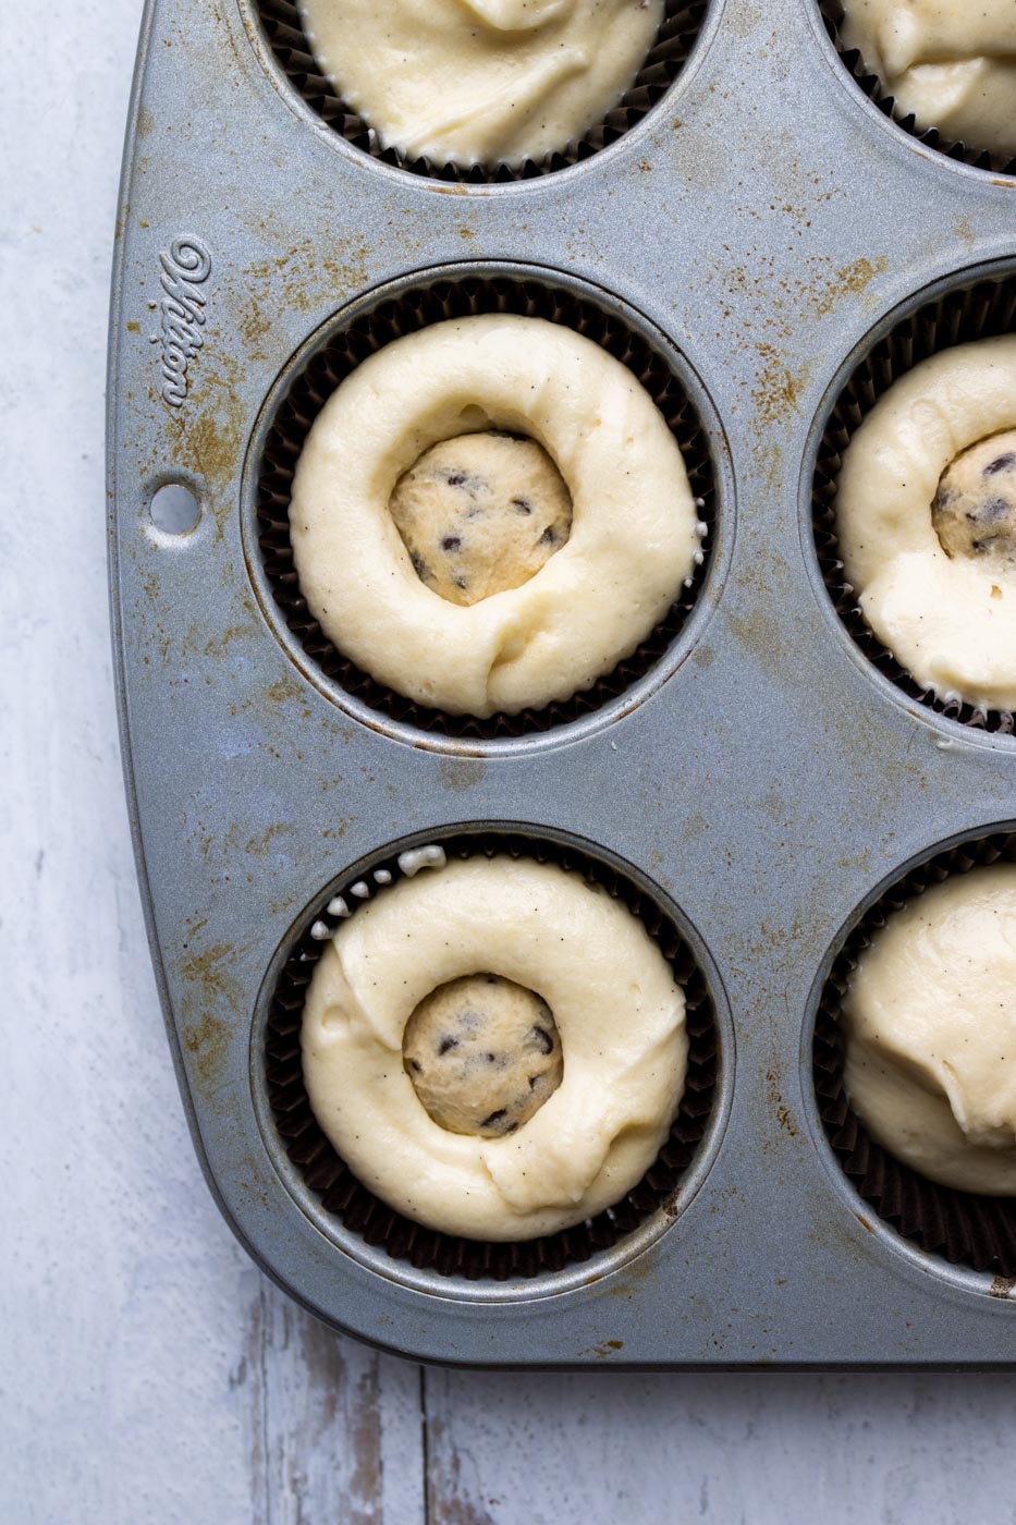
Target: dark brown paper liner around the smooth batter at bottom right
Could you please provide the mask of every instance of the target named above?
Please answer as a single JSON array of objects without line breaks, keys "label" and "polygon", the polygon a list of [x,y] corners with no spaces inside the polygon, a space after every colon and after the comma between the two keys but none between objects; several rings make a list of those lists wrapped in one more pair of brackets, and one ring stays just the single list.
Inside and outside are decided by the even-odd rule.
[{"label": "dark brown paper liner around the smooth batter at bottom right", "polygon": [[1016,1199],[940,1186],[876,1144],[844,1089],[842,997],[863,949],[886,920],[950,874],[984,863],[1016,862],[1016,834],[998,833],[937,852],[905,874],[862,917],[825,982],[815,1020],[813,1074],[819,1115],[844,1174],[903,1238],[950,1264],[1016,1276]]}]

